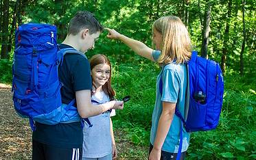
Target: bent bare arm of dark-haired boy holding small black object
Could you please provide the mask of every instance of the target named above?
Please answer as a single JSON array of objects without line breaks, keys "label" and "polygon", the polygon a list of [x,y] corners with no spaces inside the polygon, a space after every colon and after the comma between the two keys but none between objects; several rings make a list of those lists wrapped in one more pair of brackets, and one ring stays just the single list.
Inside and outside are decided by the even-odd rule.
[{"label": "bent bare arm of dark-haired boy holding small black object", "polygon": [[91,90],[80,90],[75,92],[76,105],[78,113],[82,118],[88,118],[98,114],[102,114],[108,109],[123,109],[123,101],[110,101],[102,105],[91,104]]}]

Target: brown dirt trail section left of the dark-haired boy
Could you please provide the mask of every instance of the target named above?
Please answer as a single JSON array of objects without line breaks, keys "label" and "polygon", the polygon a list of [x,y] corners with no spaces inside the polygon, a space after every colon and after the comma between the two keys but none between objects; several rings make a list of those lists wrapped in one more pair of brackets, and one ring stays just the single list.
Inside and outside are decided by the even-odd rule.
[{"label": "brown dirt trail section left of the dark-haired boy", "polygon": [[31,129],[19,118],[12,104],[8,85],[0,85],[0,159],[32,159]]}]

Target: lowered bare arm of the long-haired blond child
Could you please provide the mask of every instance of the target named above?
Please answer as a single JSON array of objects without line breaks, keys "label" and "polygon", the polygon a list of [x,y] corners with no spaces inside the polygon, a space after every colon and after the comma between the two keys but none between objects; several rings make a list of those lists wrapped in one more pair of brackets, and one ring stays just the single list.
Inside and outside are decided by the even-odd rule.
[{"label": "lowered bare arm of the long-haired blond child", "polygon": [[159,125],[156,131],[156,138],[154,139],[154,147],[150,152],[149,159],[160,159],[161,157],[161,148],[163,142],[172,124],[174,118],[176,103],[163,102],[163,111],[159,118]]}]

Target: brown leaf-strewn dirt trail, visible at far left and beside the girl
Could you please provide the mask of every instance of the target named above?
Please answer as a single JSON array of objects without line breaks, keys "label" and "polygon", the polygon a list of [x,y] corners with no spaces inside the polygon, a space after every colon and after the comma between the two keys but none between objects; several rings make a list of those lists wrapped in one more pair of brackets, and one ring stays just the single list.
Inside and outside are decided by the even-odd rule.
[{"label": "brown leaf-strewn dirt trail, visible at far left and beside the girl", "polygon": [[[147,148],[134,146],[124,131],[115,130],[118,160],[146,159]],[[10,85],[0,83],[0,160],[32,159],[32,131],[14,111]]]}]

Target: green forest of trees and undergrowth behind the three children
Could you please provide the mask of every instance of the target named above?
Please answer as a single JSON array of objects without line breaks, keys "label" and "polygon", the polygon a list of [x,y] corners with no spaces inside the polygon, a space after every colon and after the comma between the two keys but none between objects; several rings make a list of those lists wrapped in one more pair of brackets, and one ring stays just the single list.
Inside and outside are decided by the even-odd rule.
[{"label": "green forest of trees and undergrowth behind the three children", "polygon": [[[187,159],[256,159],[255,0],[1,0],[0,4],[0,82],[9,84],[14,33],[23,23],[54,24],[58,42],[62,42],[70,18],[78,10],[88,10],[104,27],[151,46],[152,23],[161,16],[179,16],[194,49],[218,62],[224,73],[220,124],[213,131],[191,134]],[[148,146],[160,68],[106,34],[86,55],[107,55],[113,65],[117,98],[132,96],[124,111],[117,111],[113,118],[115,131],[124,132],[135,146]],[[139,159],[147,152],[130,149],[127,159]]]}]

